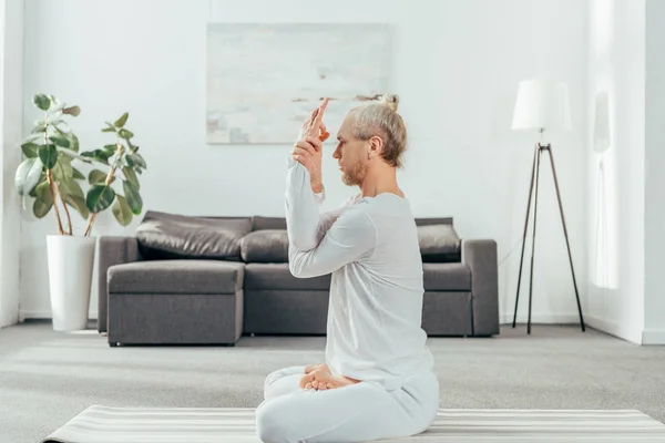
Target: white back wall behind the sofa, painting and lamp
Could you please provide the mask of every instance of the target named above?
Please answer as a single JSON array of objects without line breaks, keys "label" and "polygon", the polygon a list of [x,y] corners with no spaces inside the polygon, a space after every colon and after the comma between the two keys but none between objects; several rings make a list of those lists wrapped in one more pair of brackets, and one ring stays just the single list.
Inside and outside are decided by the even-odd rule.
[{"label": "white back wall behind the sofa, painting and lamp", "polygon": [[[534,134],[510,131],[518,82],[540,75],[570,83],[574,130],[552,142],[577,281],[586,281],[586,202],[580,189],[587,172],[587,13],[579,0],[341,0],[329,8],[305,0],[28,0],[23,100],[45,91],[81,105],[75,128],[84,148],[103,144],[102,122],[129,110],[150,166],[142,181],[150,208],[282,216],[289,146],[205,144],[206,21],[395,23],[393,92],[411,135],[402,187],[416,216],[453,216],[461,236],[497,239],[500,257],[521,240],[535,142]],[[25,130],[33,119],[28,111]],[[325,167],[335,204],[351,189],[339,183],[332,162]],[[135,226],[120,229],[109,214],[100,222],[96,235]],[[52,218],[25,216],[23,316],[49,315],[44,236],[53,231]],[[518,266],[519,248],[500,271],[501,309],[510,319]],[[534,278],[534,319],[576,321],[546,169]],[[522,315],[528,290],[525,278]]]}]

